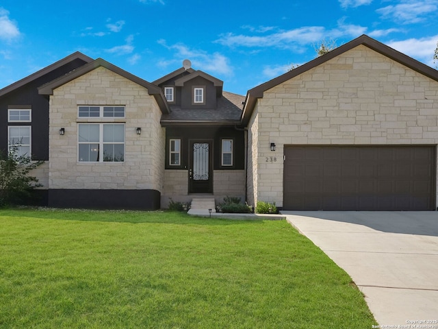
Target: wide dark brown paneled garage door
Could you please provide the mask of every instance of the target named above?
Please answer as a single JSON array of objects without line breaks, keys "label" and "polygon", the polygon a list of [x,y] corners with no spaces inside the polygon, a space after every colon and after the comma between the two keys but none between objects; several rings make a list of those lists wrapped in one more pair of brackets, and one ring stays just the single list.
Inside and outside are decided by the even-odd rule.
[{"label": "wide dark brown paneled garage door", "polygon": [[434,146],[285,147],[283,209],[434,210]]}]

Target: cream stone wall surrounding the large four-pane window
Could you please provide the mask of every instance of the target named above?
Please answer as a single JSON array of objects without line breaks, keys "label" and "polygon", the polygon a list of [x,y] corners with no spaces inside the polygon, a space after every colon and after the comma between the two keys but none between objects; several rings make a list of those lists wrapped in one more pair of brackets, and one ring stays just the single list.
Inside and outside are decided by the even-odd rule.
[{"label": "cream stone wall surrounding the large four-pane window", "polygon": [[[125,118],[78,119],[81,105],[123,105]],[[153,189],[164,184],[161,111],[146,88],[103,67],[53,90],[49,111],[49,188]],[[78,123],[125,123],[125,162],[78,162]],[[64,136],[59,130],[65,128]],[[142,134],[136,134],[136,127]]]}]

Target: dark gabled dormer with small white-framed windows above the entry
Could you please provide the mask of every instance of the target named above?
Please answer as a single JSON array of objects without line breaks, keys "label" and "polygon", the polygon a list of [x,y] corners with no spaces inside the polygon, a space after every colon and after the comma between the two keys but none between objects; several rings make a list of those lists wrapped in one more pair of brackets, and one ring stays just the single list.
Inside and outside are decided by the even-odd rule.
[{"label": "dark gabled dormer with small white-framed windows above the entry", "polygon": [[217,108],[224,83],[203,71],[182,67],[153,84],[162,88],[169,106],[205,110]]}]

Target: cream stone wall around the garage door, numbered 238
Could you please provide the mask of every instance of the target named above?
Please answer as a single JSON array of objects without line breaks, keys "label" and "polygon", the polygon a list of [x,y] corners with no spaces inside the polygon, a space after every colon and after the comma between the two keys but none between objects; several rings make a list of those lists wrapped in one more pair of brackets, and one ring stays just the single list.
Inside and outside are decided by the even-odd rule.
[{"label": "cream stone wall around the garage door, numbered 238", "polygon": [[363,45],[266,90],[256,109],[248,168],[257,179],[248,194],[277,206],[284,145],[438,143],[438,82]]}]

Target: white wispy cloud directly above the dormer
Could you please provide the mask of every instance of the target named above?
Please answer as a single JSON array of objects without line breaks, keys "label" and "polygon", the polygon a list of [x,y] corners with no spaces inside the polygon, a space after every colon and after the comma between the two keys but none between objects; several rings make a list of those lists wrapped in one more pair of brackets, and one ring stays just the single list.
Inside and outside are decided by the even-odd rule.
[{"label": "white wispy cloud directly above the dormer", "polygon": [[175,63],[182,65],[183,60],[188,59],[192,62],[192,67],[196,69],[229,76],[233,75],[229,59],[221,53],[207,53],[207,51],[199,49],[190,49],[182,43],[169,46],[164,39],[160,39],[157,42],[170,51],[175,51],[175,60],[161,61],[158,63],[159,66],[168,66]]}]

